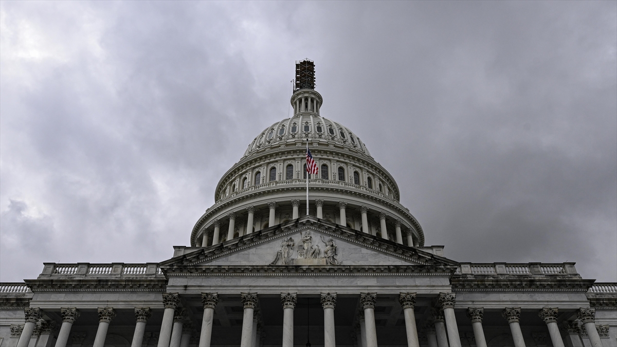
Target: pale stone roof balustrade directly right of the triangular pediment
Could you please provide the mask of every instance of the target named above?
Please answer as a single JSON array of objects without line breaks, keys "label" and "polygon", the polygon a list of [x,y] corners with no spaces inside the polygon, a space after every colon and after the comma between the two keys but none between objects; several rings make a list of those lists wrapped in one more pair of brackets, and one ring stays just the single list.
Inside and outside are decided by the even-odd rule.
[{"label": "pale stone roof balustrade directly right of the triangular pediment", "polygon": [[576,275],[573,262],[541,264],[539,262],[508,264],[505,262],[462,262],[455,275]]}]

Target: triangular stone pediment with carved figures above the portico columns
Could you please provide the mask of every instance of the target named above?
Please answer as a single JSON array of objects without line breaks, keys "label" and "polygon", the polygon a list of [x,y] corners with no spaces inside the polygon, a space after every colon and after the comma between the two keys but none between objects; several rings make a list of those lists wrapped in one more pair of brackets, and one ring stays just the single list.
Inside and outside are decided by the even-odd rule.
[{"label": "triangular stone pediment with carved figures above the portico columns", "polygon": [[312,216],[201,248],[160,263],[164,270],[195,266],[279,265],[457,267],[458,263]]}]

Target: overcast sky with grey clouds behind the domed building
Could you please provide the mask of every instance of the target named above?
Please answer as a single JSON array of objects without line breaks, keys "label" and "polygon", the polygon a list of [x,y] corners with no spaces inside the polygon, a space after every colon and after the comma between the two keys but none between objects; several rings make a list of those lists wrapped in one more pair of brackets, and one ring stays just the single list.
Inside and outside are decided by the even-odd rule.
[{"label": "overcast sky with grey clouds behind the domed building", "polygon": [[159,262],[295,61],[462,262],[617,281],[617,2],[0,2],[0,280]]}]

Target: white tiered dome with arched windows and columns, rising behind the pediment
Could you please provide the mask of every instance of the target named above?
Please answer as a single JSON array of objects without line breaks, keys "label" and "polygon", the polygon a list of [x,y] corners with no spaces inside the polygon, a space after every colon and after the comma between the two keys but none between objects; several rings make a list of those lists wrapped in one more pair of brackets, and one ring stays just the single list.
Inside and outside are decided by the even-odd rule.
[{"label": "white tiered dome with arched windows and columns, rising behind the pediment", "polygon": [[314,75],[310,83],[296,83],[290,102],[294,115],[255,136],[220,179],[215,204],[197,220],[191,246],[217,245],[306,215],[307,143],[318,166],[309,177],[309,215],[399,245],[423,246],[422,228],[400,204],[392,175],[358,135],[322,117]]}]

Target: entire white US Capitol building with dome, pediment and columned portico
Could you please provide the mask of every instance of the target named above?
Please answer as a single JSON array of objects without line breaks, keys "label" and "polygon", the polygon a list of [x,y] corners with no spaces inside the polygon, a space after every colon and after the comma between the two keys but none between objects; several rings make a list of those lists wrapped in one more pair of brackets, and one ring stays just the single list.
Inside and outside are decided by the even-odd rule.
[{"label": "entire white US Capitol building with dome, pediment and columned portico", "polygon": [[617,346],[617,283],[424,245],[394,177],[321,116],[312,61],[294,90],[293,117],[223,175],[190,245],[0,283],[0,346]]}]

